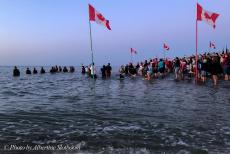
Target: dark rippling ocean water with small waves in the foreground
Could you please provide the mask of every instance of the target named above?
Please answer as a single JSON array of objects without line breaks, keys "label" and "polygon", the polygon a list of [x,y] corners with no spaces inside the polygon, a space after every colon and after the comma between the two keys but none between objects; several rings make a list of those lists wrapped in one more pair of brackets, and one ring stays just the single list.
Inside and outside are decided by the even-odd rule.
[{"label": "dark rippling ocean water with small waves in the foreground", "polygon": [[230,81],[12,70],[0,67],[0,153],[230,153]]}]

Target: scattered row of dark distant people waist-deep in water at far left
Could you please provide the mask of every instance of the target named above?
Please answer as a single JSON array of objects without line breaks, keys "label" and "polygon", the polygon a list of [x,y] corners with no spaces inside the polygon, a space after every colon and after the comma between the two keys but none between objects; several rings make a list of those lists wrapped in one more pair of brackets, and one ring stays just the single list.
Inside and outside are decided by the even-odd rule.
[{"label": "scattered row of dark distant people waist-deep in water at far left", "polygon": [[[53,66],[51,67],[50,71],[49,71],[51,74],[53,73],[60,73],[60,72],[64,72],[64,73],[67,73],[67,72],[70,72],[70,73],[73,73],[75,72],[75,68],[73,66],[70,66],[69,69],[64,66],[63,69],[61,66]],[[25,72],[27,75],[31,75],[31,74],[38,74],[38,70],[34,67],[33,68],[33,71],[31,71],[29,69],[29,67],[26,68],[26,72]],[[41,67],[40,69],[40,74],[45,74],[46,73],[46,70]],[[17,66],[14,67],[14,70],[13,70],[13,76],[14,77],[18,77],[20,76],[20,70],[17,68]]]}]

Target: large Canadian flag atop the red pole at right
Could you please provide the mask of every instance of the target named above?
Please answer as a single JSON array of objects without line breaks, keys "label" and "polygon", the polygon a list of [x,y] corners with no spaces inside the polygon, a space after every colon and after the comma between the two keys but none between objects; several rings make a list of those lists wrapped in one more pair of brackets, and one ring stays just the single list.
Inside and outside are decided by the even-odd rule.
[{"label": "large Canadian flag atop the red pole at right", "polygon": [[197,20],[198,21],[205,21],[206,23],[213,26],[215,29],[216,27],[216,19],[218,18],[219,14],[206,11],[202,8],[200,4],[197,3]]}]

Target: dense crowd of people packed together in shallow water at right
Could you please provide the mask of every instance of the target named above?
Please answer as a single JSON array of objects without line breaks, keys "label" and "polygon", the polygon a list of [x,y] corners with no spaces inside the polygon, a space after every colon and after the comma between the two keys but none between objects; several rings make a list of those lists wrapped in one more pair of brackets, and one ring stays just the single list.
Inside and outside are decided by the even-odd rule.
[{"label": "dense crowd of people packed together in shallow water at right", "polygon": [[222,53],[204,53],[199,55],[197,65],[196,57],[190,56],[176,57],[172,60],[154,58],[137,63],[135,66],[132,63],[122,65],[119,69],[120,78],[139,75],[147,80],[163,78],[172,72],[176,80],[198,77],[198,81],[205,83],[210,77],[214,85],[217,85],[218,79],[222,76],[224,80],[230,80],[230,53],[227,49]]}]

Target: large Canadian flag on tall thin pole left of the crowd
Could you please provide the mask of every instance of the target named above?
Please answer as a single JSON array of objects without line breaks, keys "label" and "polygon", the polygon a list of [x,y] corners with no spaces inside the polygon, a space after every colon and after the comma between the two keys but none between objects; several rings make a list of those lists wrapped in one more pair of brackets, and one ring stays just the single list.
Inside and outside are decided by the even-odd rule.
[{"label": "large Canadian flag on tall thin pole left of the crowd", "polygon": [[94,9],[92,5],[89,4],[89,20],[95,21],[98,24],[104,25],[109,30],[111,30],[109,25],[109,20],[106,20],[105,17]]}]

